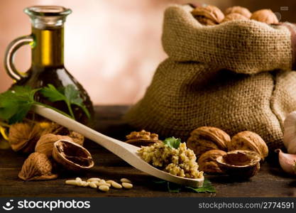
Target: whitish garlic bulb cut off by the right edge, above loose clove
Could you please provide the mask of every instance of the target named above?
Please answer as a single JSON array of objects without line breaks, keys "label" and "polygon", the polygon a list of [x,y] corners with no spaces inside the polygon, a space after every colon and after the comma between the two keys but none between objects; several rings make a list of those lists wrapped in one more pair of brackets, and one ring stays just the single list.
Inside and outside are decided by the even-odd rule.
[{"label": "whitish garlic bulb cut off by the right edge, above loose clove", "polygon": [[284,121],[284,145],[287,153],[296,154],[296,111],[287,115]]}]

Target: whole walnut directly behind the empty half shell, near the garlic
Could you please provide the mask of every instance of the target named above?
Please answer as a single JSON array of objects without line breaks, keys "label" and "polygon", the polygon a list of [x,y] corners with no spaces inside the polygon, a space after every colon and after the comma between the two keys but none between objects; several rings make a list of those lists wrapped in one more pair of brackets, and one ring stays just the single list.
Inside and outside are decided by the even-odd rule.
[{"label": "whole walnut directly behind the empty half shell, near the garlic", "polygon": [[261,136],[252,131],[241,131],[231,138],[229,143],[226,143],[228,151],[233,150],[249,150],[256,151],[261,159],[268,155],[268,146],[263,141]]}]

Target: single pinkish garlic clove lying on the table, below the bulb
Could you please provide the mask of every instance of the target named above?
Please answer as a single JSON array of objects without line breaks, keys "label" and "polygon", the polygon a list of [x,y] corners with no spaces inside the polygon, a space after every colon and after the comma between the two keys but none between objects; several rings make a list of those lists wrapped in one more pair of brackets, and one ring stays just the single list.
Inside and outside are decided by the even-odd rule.
[{"label": "single pinkish garlic clove lying on the table, below the bulb", "polygon": [[296,155],[283,153],[280,148],[276,149],[275,152],[278,153],[278,161],[280,162],[280,167],[283,168],[286,173],[295,175],[296,173],[294,169]]}]

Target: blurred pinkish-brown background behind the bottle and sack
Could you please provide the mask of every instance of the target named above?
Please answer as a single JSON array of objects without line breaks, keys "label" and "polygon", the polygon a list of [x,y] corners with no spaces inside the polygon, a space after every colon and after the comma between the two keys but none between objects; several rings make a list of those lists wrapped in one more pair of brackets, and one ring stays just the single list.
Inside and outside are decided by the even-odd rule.
[{"label": "blurred pinkish-brown background behind the bottle and sack", "polygon": [[[31,33],[23,9],[32,5],[60,5],[72,9],[65,23],[65,67],[89,92],[95,104],[132,104],[140,99],[158,64],[166,55],[160,43],[163,11],[183,0],[9,0],[0,1],[0,92],[12,80],[4,70],[4,52],[14,38]],[[246,6],[269,8],[280,21],[296,22],[296,1],[204,0],[224,10]],[[16,55],[16,67],[31,64],[28,46]]]}]

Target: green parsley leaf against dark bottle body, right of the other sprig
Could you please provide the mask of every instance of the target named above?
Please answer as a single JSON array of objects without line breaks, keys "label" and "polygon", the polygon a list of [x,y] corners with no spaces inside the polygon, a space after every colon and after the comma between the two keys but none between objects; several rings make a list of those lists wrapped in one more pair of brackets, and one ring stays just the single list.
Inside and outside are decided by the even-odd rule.
[{"label": "green parsley leaf against dark bottle body, right of the other sprig", "polygon": [[55,88],[55,86],[53,86],[53,84],[48,84],[48,87],[41,89],[40,93],[43,94],[44,97],[47,97],[50,102],[64,101],[67,104],[67,108],[72,116],[72,119],[75,119],[75,115],[72,111],[72,105],[80,107],[87,117],[90,118],[89,111],[87,110],[87,107],[84,106],[83,100],[74,85],[69,84],[59,91]]}]

